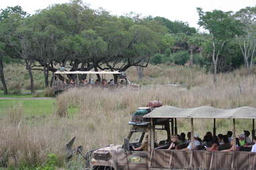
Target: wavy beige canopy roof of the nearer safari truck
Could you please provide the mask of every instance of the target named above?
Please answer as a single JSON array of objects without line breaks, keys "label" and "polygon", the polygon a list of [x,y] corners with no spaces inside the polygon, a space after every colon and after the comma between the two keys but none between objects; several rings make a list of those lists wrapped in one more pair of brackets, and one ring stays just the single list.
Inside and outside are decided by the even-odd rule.
[{"label": "wavy beige canopy roof of the nearer safari truck", "polygon": [[256,118],[256,108],[243,106],[240,108],[214,108],[201,106],[197,108],[177,108],[161,106],[144,115],[146,118]]}]

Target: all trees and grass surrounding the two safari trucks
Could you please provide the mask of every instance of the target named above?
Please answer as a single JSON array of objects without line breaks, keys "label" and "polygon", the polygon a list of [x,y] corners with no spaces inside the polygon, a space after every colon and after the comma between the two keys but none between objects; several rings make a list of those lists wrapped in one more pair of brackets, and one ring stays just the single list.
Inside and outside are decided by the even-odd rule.
[{"label": "all trees and grass surrounding the two safari trucks", "polygon": [[[256,106],[256,8],[198,8],[198,14],[204,33],[183,21],[114,16],[81,1],[34,15],[19,6],[1,9],[0,97],[16,98],[0,100],[0,169],[81,169],[82,159],[65,161],[65,144],[74,136],[85,151],[123,143],[132,112],[150,100],[183,108]],[[141,88],[74,88],[47,100],[17,99],[51,96],[60,67],[125,71]],[[179,120],[179,133],[189,131],[187,121]],[[217,120],[217,133],[232,129],[229,121]],[[194,124],[201,136],[212,130],[209,120]],[[239,120],[238,133],[245,129],[251,122]]]}]

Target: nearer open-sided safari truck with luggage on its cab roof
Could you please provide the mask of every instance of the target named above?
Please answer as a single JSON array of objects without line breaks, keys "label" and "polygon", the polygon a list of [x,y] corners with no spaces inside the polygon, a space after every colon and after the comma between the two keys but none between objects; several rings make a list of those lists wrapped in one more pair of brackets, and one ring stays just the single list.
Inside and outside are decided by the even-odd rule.
[{"label": "nearer open-sided safari truck with luggage on its cab roof", "polygon": [[[168,149],[171,135],[177,135],[179,118],[187,118],[194,137],[194,120],[212,120],[212,133],[216,135],[216,121],[231,120],[233,137],[236,137],[235,122],[237,119],[249,120],[252,124],[252,136],[255,136],[256,108],[241,107],[220,109],[210,106],[198,108],[177,108],[160,106],[158,108],[138,108],[132,115],[130,133],[123,145],[108,145],[101,149],[87,152],[87,169],[215,169],[215,170],[248,170],[256,169],[256,153],[250,149],[240,151],[206,151],[199,147],[191,150],[182,148]],[[146,149],[134,150],[144,145]],[[191,138],[192,148],[194,138]],[[144,144],[142,144],[144,143]],[[236,143],[234,143],[236,144]],[[181,144],[182,145],[182,144]],[[204,147],[202,147],[204,148]]]}]

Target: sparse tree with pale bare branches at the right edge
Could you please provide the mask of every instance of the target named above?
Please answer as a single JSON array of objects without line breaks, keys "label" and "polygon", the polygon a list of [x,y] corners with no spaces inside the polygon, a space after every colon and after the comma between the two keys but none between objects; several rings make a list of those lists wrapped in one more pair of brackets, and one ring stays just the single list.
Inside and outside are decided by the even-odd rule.
[{"label": "sparse tree with pale bare branches at the right edge", "polygon": [[237,41],[243,53],[245,67],[250,73],[253,68],[256,49],[256,7],[241,9],[234,16],[245,25],[245,34],[237,36]]}]

